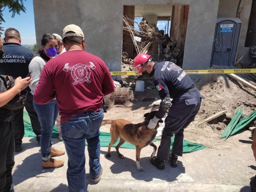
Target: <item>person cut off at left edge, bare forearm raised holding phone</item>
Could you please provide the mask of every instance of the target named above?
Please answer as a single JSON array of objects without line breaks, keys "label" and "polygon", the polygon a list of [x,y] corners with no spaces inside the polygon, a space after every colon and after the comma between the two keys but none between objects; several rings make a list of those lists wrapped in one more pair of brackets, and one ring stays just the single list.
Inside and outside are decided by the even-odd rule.
[{"label": "person cut off at left edge, bare forearm raised holding phone", "polygon": [[[0,36],[1,37],[1,36]],[[4,50],[0,38],[0,59]],[[31,77],[21,79],[17,77],[14,85],[6,92],[0,93],[0,191],[13,192],[12,168],[14,166],[14,135],[10,119],[12,110],[3,108],[12,98],[24,90],[32,80]],[[2,85],[1,85],[2,86]]]}]

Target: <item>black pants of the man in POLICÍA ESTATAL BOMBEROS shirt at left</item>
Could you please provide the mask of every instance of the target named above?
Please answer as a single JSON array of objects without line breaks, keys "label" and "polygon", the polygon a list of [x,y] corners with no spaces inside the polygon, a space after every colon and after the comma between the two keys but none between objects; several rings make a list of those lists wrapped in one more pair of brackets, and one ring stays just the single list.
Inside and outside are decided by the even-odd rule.
[{"label": "black pants of the man in POLIC\u00cdA ESTATAL BOMBEROS shirt at left", "polygon": [[[31,93],[28,93],[25,108],[26,108],[26,111],[28,112],[28,116],[30,117],[32,129],[37,136],[36,140],[39,143],[40,135],[41,135],[41,126],[40,126],[36,111],[33,107],[33,95]],[[13,110],[11,123],[12,123],[12,129],[14,132],[15,146],[21,145],[22,139],[24,137],[23,108]]]}]

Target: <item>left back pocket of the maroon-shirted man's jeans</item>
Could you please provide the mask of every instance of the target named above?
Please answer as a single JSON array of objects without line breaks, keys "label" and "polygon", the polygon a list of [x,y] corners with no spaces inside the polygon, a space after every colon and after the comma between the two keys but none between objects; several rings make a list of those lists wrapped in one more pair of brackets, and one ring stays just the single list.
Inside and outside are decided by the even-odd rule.
[{"label": "left back pocket of the maroon-shirted man's jeans", "polygon": [[84,121],[66,121],[65,136],[71,139],[80,138],[84,134]]}]

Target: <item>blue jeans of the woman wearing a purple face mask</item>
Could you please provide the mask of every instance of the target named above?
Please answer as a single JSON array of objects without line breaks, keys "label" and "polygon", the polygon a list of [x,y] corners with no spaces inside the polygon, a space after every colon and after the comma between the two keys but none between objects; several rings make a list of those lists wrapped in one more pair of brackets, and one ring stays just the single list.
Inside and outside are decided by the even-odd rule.
[{"label": "blue jeans of the woman wearing a purple face mask", "polygon": [[50,149],[52,148],[52,131],[59,114],[58,104],[56,100],[52,100],[47,104],[38,105],[33,100],[33,107],[41,125],[40,147],[42,159],[47,161],[51,158]]}]

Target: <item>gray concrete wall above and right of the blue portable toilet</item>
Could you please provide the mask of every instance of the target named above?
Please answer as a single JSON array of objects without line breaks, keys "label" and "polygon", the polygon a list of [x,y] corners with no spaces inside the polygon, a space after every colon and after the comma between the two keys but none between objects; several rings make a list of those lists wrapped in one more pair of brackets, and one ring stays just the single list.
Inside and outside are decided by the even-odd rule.
[{"label": "gray concrete wall above and right of the blue portable toilet", "polygon": [[[236,17],[238,3],[239,0],[220,0],[218,17]],[[252,0],[243,0],[240,4],[240,20],[242,21],[242,29],[236,55],[236,59],[239,59],[242,55],[244,55],[241,63],[247,66],[250,66],[252,63],[252,58],[250,57],[249,53],[250,48],[244,47],[251,7]]]}]

